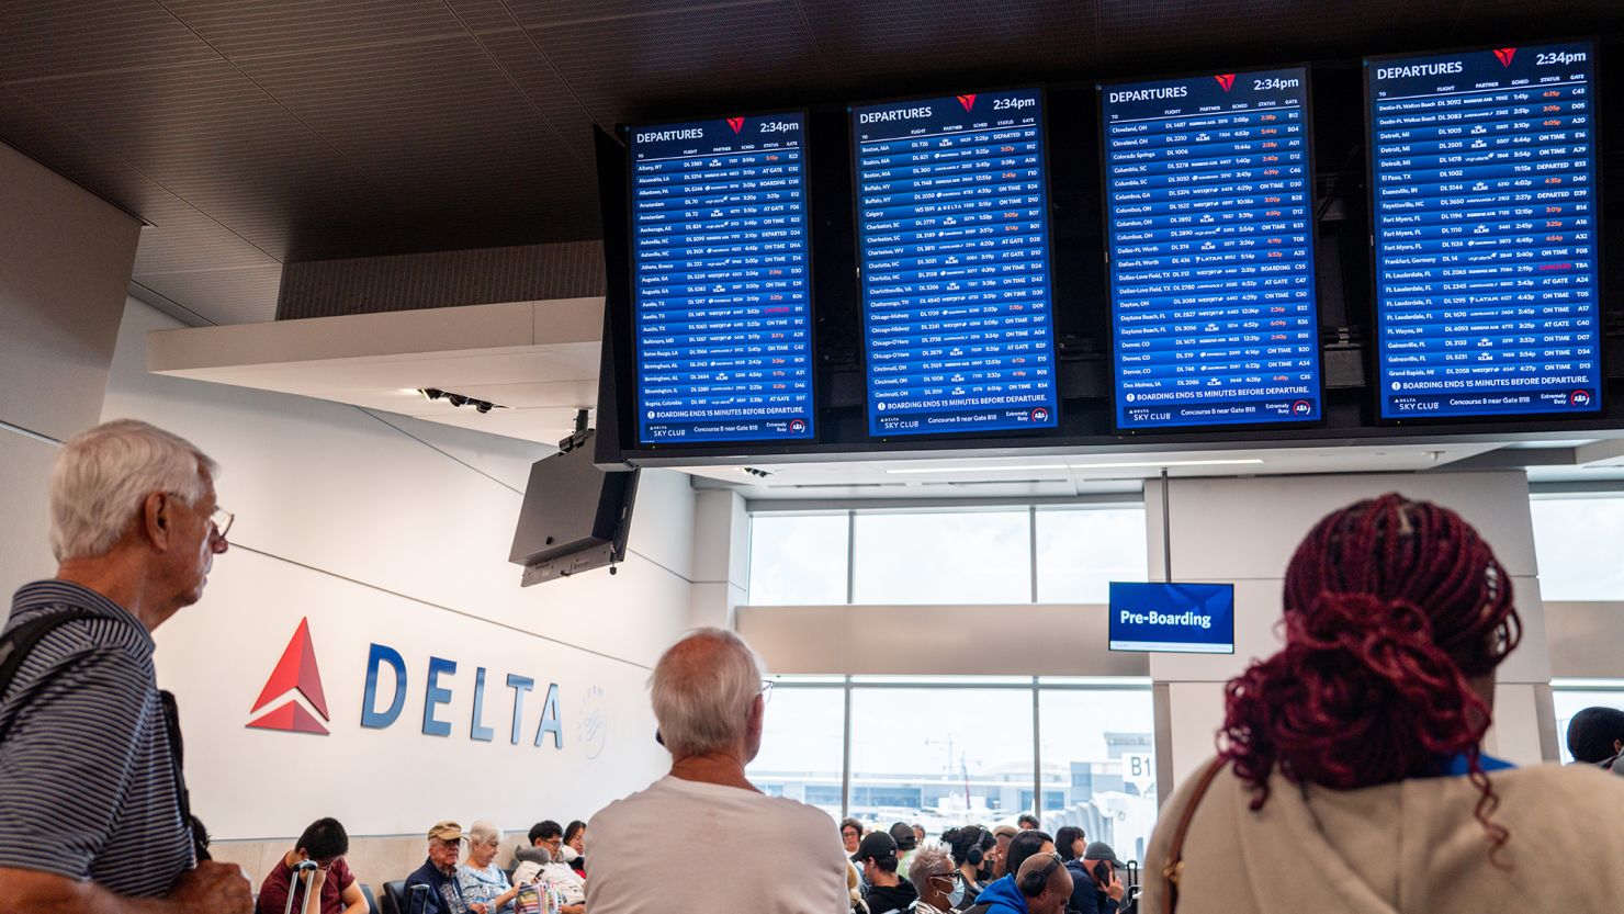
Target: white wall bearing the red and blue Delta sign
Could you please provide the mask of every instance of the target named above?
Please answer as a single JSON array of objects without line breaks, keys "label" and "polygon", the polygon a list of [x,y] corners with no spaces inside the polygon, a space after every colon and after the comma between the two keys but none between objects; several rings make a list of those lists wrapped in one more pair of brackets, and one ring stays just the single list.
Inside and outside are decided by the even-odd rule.
[{"label": "white wall bearing the red and blue Delta sign", "polygon": [[[508,547],[528,466],[551,448],[148,375],[146,334],[172,326],[128,304],[104,417],[148,419],[192,438],[221,463],[219,502],[237,513],[232,550],[216,560],[203,602],[158,632],[159,682],[182,708],[193,807],[218,838],[284,839],[320,815],[336,815],[351,834],[416,834],[440,818],[523,831],[539,818],[588,818],[664,770],[645,682],[687,625],[685,476],[643,472],[619,575],[521,589]],[[302,619],[331,734],[248,729]],[[408,669],[404,709],[387,729],[361,726],[372,643],[400,651]],[[438,713],[448,737],[422,732],[430,656],[458,662],[440,680],[451,690]],[[469,737],[477,667],[487,670],[482,722],[492,742]],[[536,680],[520,745],[508,739],[508,674]],[[547,683],[560,690],[562,748],[551,737],[533,745]],[[391,685],[385,669],[385,706]]]}]

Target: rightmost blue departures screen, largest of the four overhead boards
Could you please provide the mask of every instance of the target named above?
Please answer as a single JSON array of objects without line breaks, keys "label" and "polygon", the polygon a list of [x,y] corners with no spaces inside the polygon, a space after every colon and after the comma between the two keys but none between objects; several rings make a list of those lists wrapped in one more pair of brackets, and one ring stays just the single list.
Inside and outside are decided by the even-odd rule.
[{"label": "rightmost blue departures screen, largest of the four overhead boards", "polygon": [[1366,60],[1382,419],[1601,409],[1592,57]]}]

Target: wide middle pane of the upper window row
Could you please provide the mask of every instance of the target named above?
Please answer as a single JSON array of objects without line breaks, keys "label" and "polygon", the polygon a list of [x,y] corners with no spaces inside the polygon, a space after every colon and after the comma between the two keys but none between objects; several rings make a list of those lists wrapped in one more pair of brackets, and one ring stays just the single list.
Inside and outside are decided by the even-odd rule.
[{"label": "wide middle pane of the upper window row", "polygon": [[862,513],[853,602],[1031,602],[1028,510]]}]

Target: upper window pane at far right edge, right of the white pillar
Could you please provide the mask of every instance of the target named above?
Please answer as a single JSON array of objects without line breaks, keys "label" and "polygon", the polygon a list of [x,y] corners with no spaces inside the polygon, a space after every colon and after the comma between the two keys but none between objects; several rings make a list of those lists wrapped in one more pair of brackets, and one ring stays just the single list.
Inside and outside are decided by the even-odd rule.
[{"label": "upper window pane at far right edge, right of the white pillar", "polygon": [[1624,601],[1624,497],[1535,498],[1533,545],[1546,601]]}]

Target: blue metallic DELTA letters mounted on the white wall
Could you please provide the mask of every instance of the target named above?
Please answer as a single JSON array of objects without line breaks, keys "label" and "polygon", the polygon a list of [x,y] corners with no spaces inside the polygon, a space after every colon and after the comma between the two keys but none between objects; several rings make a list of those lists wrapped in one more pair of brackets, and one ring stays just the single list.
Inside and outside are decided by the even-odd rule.
[{"label": "blue metallic DELTA letters mounted on the white wall", "polygon": [[[378,711],[378,672],[388,664],[395,670],[395,696],[390,706]],[[435,711],[451,703],[451,688],[440,685],[442,675],[456,675],[456,661],[445,657],[429,657],[429,672],[422,693],[422,732],[424,735],[448,737],[451,722],[442,721]],[[536,688],[536,680],[528,675],[508,674],[507,687],[513,690],[513,714],[508,742],[518,745],[525,724],[525,698]],[[367,649],[367,690],[361,700],[361,726],[372,729],[388,729],[400,719],[406,706],[406,659],[388,645],[372,645]],[[474,669],[474,714],[469,721],[468,737],[479,742],[495,740],[495,727],[486,726],[486,667]],[[552,734],[552,748],[564,748],[564,722],[559,719],[559,683],[547,685],[547,696],[541,701],[541,719],[536,724],[533,744],[539,747],[542,739]]]}]

